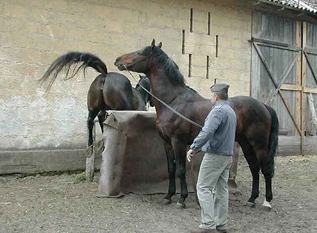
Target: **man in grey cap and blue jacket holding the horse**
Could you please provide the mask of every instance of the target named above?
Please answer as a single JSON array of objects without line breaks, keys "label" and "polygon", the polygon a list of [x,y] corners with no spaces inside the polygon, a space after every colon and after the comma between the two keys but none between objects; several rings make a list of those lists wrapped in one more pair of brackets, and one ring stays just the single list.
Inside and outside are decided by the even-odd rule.
[{"label": "man in grey cap and blue jacket holding the horse", "polygon": [[201,224],[192,232],[228,232],[228,178],[232,163],[236,115],[228,102],[229,85],[211,86],[213,108],[203,129],[190,146],[187,160],[196,152],[205,152],[200,165],[197,195],[201,206]]}]

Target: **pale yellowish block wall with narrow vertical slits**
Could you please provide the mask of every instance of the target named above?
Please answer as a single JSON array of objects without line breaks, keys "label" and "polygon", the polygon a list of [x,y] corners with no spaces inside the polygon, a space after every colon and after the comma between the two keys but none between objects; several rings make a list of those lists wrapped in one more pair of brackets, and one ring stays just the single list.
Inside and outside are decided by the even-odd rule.
[{"label": "pale yellowish block wall with narrow vertical slits", "polygon": [[68,51],[96,54],[109,71],[120,72],[113,65],[117,56],[150,45],[155,38],[179,65],[187,84],[203,96],[209,97],[215,77],[231,85],[230,95],[250,93],[251,11],[240,1],[3,0],[0,25],[2,151],[86,147],[87,92],[98,73],[89,69],[86,79],[81,72],[67,81],[60,75],[46,94],[38,83],[54,59]]}]

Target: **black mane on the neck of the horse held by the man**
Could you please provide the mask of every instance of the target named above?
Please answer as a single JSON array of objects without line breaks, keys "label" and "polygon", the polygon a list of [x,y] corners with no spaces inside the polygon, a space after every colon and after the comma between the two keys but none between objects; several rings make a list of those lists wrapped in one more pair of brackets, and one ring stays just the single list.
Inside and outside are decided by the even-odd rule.
[{"label": "black mane on the neck of the horse held by the man", "polygon": [[[150,49],[150,47],[148,48]],[[153,48],[153,56],[156,58],[156,65],[162,66],[165,70],[165,75],[170,79],[173,84],[185,86],[185,79],[180,72],[178,65],[159,47]]]}]

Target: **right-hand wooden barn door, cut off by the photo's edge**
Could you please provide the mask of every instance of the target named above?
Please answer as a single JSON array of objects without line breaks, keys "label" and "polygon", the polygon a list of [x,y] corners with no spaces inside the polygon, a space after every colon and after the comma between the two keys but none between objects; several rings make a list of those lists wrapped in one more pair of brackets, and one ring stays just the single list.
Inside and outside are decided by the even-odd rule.
[{"label": "right-hand wooden barn door, cut off by the photo's edge", "polygon": [[317,25],[303,24],[303,72],[302,72],[302,131],[303,154],[317,153],[317,129],[308,106],[308,95],[311,93],[314,108],[317,109]]}]

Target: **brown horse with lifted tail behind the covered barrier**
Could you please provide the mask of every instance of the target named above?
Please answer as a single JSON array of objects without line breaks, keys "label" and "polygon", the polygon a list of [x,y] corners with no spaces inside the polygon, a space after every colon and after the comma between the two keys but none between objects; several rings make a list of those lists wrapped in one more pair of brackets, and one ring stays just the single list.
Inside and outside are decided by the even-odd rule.
[{"label": "brown horse with lifted tail behind the covered barrier", "polygon": [[[71,65],[78,65],[74,69],[72,78],[81,68],[92,67],[101,74],[98,75],[91,84],[88,91],[88,110],[89,115],[87,119],[88,126],[88,156],[93,152],[93,126],[94,120],[98,115],[99,124],[103,133],[103,122],[105,121],[107,110],[146,110],[147,102],[153,106],[151,96],[141,88],[140,84],[148,91],[150,90],[150,81],[144,76],[140,75],[138,84],[132,87],[129,79],[119,73],[109,72],[106,65],[97,56],[89,53],[69,52],[57,58],[48,68],[42,80],[46,80],[52,73],[48,88],[51,87],[57,74],[66,68],[66,76]],[[67,79],[69,79],[67,78]]]}]

